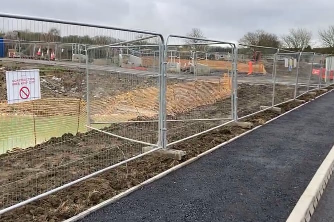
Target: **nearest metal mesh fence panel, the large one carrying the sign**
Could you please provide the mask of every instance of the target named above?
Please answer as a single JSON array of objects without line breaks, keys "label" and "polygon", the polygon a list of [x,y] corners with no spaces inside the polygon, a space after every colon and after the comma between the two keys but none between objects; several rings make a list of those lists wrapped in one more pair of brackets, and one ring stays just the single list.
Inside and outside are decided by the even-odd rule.
[{"label": "nearest metal mesh fence panel, the large one carrying the sign", "polygon": [[[3,109],[7,110],[6,112],[16,112],[16,115],[20,113],[18,115],[22,114],[24,118],[31,117],[31,123],[29,119],[28,125],[29,127],[31,125],[31,135],[34,142],[22,146],[22,148],[29,147],[27,149],[0,156],[0,174],[3,179],[0,182],[0,214],[160,149],[142,153],[142,146],[159,147],[157,144],[161,136],[158,133],[161,130],[158,130],[158,125],[155,123],[144,124],[144,126],[143,123],[140,123],[141,125],[138,123],[113,123],[99,125],[102,129],[98,130],[86,127],[86,123],[96,120],[94,119],[96,116],[92,116],[91,114],[94,113],[90,111],[97,111],[95,114],[99,118],[101,114],[103,118],[105,118],[105,114],[110,116],[110,113],[106,113],[108,111],[107,103],[109,102],[110,105],[110,101],[114,101],[115,98],[123,98],[120,101],[123,116],[125,113],[130,118],[126,120],[138,117],[137,113],[141,113],[143,108],[140,107],[140,103],[137,104],[140,101],[133,101],[128,93],[131,93],[131,90],[142,90],[137,88],[137,83],[146,84],[146,81],[149,82],[152,77],[155,79],[164,77],[160,73],[160,68],[155,68],[152,73],[147,73],[143,70],[132,69],[133,67],[122,67],[126,63],[119,62],[121,48],[114,50],[112,46],[121,46],[120,44],[127,43],[148,45],[153,41],[158,41],[160,46],[164,45],[164,38],[161,34],[3,13],[0,13],[0,17],[3,21],[1,23],[3,26],[0,28],[6,32],[5,38],[12,37],[13,40],[17,40],[13,43],[9,41],[4,43],[6,46],[10,43],[9,46],[13,53],[6,51],[6,56],[8,55],[10,58],[3,61],[5,65],[3,70],[15,70],[18,67],[26,69],[28,65],[39,69],[42,77],[40,78],[42,100],[17,103],[16,105],[3,103]],[[24,46],[24,50],[21,50],[25,40],[30,41],[24,42],[26,47]],[[86,42],[82,44],[83,41]],[[94,43],[92,44],[92,42]],[[71,57],[68,56],[67,50],[71,50]],[[156,51],[158,52],[159,49]],[[24,52],[26,53],[25,57],[22,54]],[[70,62],[57,61],[57,57]],[[128,59],[124,57],[125,55],[123,60]],[[132,58],[136,59],[137,57]],[[162,61],[161,56],[158,55],[157,58]],[[103,64],[103,60],[116,64],[116,59],[118,59],[119,66],[116,66],[114,71],[108,70],[110,68]],[[98,62],[102,62],[102,64],[98,65]],[[156,61],[153,60],[153,62]],[[87,63],[89,63],[88,66]],[[159,66],[159,64],[160,62],[153,66]],[[58,68],[59,66],[73,67],[65,68],[69,72],[68,77],[60,76],[63,71]],[[48,71],[47,76],[50,76],[51,80],[46,78],[46,75],[42,75],[42,70]],[[101,75],[103,72],[105,75]],[[84,78],[76,79],[76,76],[81,77],[82,74]],[[109,80],[113,78],[116,81],[111,81],[112,88],[103,89],[103,86],[108,84],[107,78]],[[3,79],[5,80],[5,78]],[[156,81],[156,86],[158,84],[159,82]],[[131,88],[132,86],[134,88]],[[6,95],[7,88],[4,89],[5,91],[3,94],[1,91],[1,95]],[[158,94],[157,90],[157,100]],[[57,97],[60,98],[56,99]],[[3,97],[2,99],[7,98]],[[49,101],[49,106],[43,105],[45,103],[42,101],[45,100]],[[59,106],[56,106],[55,101],[58,101]],[[128,107],[129,102],[131,110]],[[29,104],[33,104],[33,108],[30,108]],[[156,105],[159,107],[159,103]],[[46,114],[44,115],[45,119],[41,120],[41,111],[42,113],[46,112],[50,117],[56,116],[58,122],[52,124],[49,118],[46,118]],[[80,114],[78,114],[79,112]],[[72,121],[65,117],[71,118]],[[37,118],[41,121],[37,121]],[[15,119],[15,121],[18,120]],[[85,122],[84,128],[82,128],[82,122]],[[1,123],[3,122],[1,121]],[[12,121],[9,123],[11,128],[18,126],[16,123],[14,126]],[[45,129],[40,127],[43,124],[53,125],[54,129],[66,130],[67,132],[57,135],[50,131],[49,136],[44,134],[42,135],[44,138],[38,140],[38,135],[43,131],[40,129]],[[68,130],[67,125],[71,126],[73,131]],[[4,132],[7,131],[10,134],[10,130],[8,130],[10,128],[3,124],[0,127],[1,132],[4,127]],[[20,137],[22,135],[10,134],[10,136],[22,139]],[[61,137],[59,138],[59,136]],[[20,166],[29,166],[29,168],[25,169]]]}]

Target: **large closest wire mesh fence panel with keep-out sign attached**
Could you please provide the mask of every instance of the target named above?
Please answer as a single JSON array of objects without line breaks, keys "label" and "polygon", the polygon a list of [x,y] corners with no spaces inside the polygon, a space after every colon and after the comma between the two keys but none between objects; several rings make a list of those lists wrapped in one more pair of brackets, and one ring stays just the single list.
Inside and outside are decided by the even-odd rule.
[{"label": "large closest wire mesh fence panel with keep-out sign attached", "polygon": [[[161,139],[163,135],[160,127],[162,126],[161,118],[157,117],[162,104],[161,87],[157,87],[157,82],[160,83],[163,80],[160,69],[159,72],[149,72],[146,77],[139,77],[141,73],[138,74],[138,72],[143,71],[132,67],[96,65],[87,55],[87,51],[88,53],[98,51],[96,47],[84,52],[83,64],[72,61],[55,63],[51,60],[52,51],[56,54],[62,42],[64,42],[63,45],[68,45],[65,43],[85,43],[112,46],[111,44],[115,42],[117,45],[119,42],[129,42],[129,40],[140,42],[144,39],[138,39],[136,36],[144,34],[155,36],[155,39],[158,39],[163,45],[163,38],[160,34],[3,13],[0,14],[0,17],[3,21],[3,26],[0,26],[1,30],[6,33],[14,31],[19,33],[17,36],[21,37],[20,41],[28,41],[27,45],[36,43],[37,52],[35,54],[38,53],[37,56],[39,54],[41,56],[46,53],[50,60],[16,57],[4,59],[1,62],[4,68],[1,70],[3,72],[1,73],[1,86],[6,81],[6,70],[37,69],[40,75],[38,79],[40,94],[36,100],[21,101],[28,100],[25,97],[33,96],[32,89],[26,86],[30,90],[29,94],[26,88],[21,89],[22,85],[19,91],[16,90],[17,87],[16,91],[13,90],[14,96],[24,97],[14,98],[19,103],[10,104],[11,99],[7,102],[6,97],[1,98],[4,101],[0,104],[0,131],[6,133],[0,136],[0,151],[2,152],[0,155],[0,214],[160,149],[158,144],[161,144],[160,141],[163,140]],[[10,44],[14,45],[13,47],[18,52],[17,47],[20,41],[9,41],[14,42]],[[108,51],[108,46],[101,48]],[[30,55],[32,49],[25,47],[24,50]],[[162,46],[158,50],[160,58],[162,58],[161,50]],[[104,54],[96,53],[94,56],[95,58],[97,56],[97,59],[107,60]],[[91,58],[94,59],[94,57]],[[159,61],[159,64],[161,63],[162,59]],[[87,67],[87,69],[82,69],[82,67]],[[95,77],[100,80],[97,81]],[[26,78],[28,81],[32,81],[32,78],[37,80],[35,76],[17,79],[20,81],[19,79]],[[108,85],[108,81],[111,80],[114,82]],[[90,86],[92,86],[91,91],[89,91]],[[103,86],[112,87],[103,88]],[[157,88],[151,93],[157,98],[152,98],[150,103],[144,101],[149,99],[145,97],[145,93],[139,93],[140,90],[143,91],[148,87]],[[4,94],[1,91],[1,96],[7,94],[8,87],[0,89],[3,88],[5,90]],[[130,92],[133,90],[137,91]],[[125,100],[119,101],[123,105],[123,112],[130,113],[129,116],[137,118],[139,122],[140,118],[147,118],[152,124],[143,126],[138,123],[108,123],[102,130],[99,129],[101,127],[99,124],[96,124],[94,128],[90,123],[98,121],[98,119],[94,120],[94,114],[98,114],[99,111],[108,116],[107,120],[113,120],[112,116],[115,113],[110,110],[113,108],[115,96],[126,97]],[[150,111],[149,114],[147,110]],[[154,116],[151,116],[151,112],[154,112]],[[20,127],[19,130],[18,127]],[[130,133],[130,136],[126,135],[127,133]],[[25,143],[22,144],[19,140]],[[154,149],[143,153],[142,147],[144,146],[151,146]],[[16,151],[13,152],[15,147],[22,149],[18,151],[15,149]],[[7,150],[12,152],[6,152]],[[124,171],[124,178],[126,175]]]}]

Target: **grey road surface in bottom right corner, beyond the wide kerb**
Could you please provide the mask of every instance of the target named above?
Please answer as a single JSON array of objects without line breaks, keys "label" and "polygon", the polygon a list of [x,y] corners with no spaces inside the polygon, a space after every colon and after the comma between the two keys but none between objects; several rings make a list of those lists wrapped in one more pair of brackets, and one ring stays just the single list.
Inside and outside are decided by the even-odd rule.
[{"label": "grey road surface in bottom right corner, beyond the wide kerb", "polygon": [[334,221],[334,175],[321,196],[320,202],[311,217],[310,222],[333,222]]}]

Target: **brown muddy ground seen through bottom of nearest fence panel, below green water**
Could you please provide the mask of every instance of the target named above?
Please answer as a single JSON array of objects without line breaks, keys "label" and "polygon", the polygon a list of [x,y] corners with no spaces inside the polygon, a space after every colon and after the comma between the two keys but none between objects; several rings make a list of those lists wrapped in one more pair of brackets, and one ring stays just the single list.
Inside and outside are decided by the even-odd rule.
[{"label": "brown muddy ground seen through bottom of nearest fence panel, below green water", "polygon": [[[117,132],[117,127],[104,129]],[[4,209],[141,153],[138,143],[90,131],[0,156],[0,209]]]}]

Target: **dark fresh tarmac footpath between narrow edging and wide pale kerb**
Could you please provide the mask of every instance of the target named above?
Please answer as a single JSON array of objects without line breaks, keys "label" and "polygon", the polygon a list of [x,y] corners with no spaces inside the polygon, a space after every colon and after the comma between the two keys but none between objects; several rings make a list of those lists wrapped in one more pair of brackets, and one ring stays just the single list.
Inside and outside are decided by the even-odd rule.
[{"label": "dark fresh tarmac footpath between narrow edging and wide pale kerb", "polygon": [[329,93],[81,222],[285,222],[334,143],[333,105]]}]

